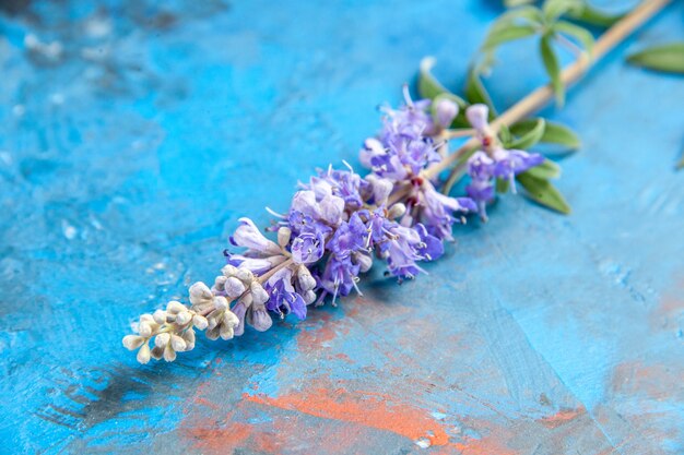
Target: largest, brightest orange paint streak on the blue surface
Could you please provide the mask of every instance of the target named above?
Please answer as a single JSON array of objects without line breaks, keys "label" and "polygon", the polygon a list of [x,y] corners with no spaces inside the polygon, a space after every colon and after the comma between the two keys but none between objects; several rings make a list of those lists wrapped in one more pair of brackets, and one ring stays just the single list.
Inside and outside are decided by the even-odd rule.
[{"label": "largest, brightest orange paint streak on the blue surface", "polygon": [[431,418],[426,410],[390,404],[385,395],[312,388],[303,394],[292,393],[276,398],[247,394],[243,396],[251,403],[295,410],[323,419],[358,423],[390,431],[413,441],[426,438],[432,445],[446,445],[449,442],[444,428]]}]

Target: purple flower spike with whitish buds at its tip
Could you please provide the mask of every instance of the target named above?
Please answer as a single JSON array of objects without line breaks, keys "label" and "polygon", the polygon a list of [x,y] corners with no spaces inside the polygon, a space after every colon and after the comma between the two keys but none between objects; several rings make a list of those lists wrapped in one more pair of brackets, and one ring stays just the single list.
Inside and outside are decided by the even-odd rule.
[{"label": "purple flower spike with whitish buds at its tip", "polygon": [[441,159],[441,133],[458,107],[448,99],[413,101],[404,94],[404,106],[382,109],[381,131],[361,151],[370,173],[362,178],[346,164],[319,170],[300,183],[286,213],[272,212],[276,219],[267,231],[276,232],[274,240],[240,218],[213,285],[193,284],[190,308],[173,301],[166,310],[143,314],[133,327],[138,334],[123,338],[127,348],[140,348],[140,362],[172,361],[176,352],[192,349],[194,330],[210,339],[229,339],[243,335],[246,325],[267,331],[273,316],[292,313],[303,320],[311,304],[361,294],[359,275],[376,261],[400,280],[415,277],[424,272],[421,262],[444,253],[453,224],[464,223],[470,212],[484,214],[494,178],[511,179],[536,161],[534,155],[487,145],[486,108],[471,107],[468,118],[484,151],[470,160],[470,197],[441,194],[439,181],[424,171]]}]

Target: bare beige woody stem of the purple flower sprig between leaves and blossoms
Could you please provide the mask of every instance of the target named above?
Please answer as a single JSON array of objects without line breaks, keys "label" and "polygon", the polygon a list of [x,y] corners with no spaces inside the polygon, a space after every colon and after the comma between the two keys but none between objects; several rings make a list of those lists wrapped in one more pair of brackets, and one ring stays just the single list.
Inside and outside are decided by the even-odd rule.
[{"label": "bare beige woody stem of the purple flower sprig between leaves and blossoms", "polygon": [[[561,79],[565,86],[577,82],[591,65],[595,64],[601,58],[610,52],[615,46],[622,43],[636,28],[641,26],[646,21],[651,19],[657,12],[667,7],[672,0],[644,0],[635,10],[620,20],[615,25],[609,28],[595,41],[592,56],[589,58],[586,53],[579,56],[577,60],[566,67]],[[551,84],[544,85],[530,93],[528,96],[511,106],[507,111],[502,113],[492,122],[492,129],[496,132],[502,125],[510,125],[520,121],[532,112],[544,107],[554,96]],[[441,161],[431,166],[424,171],[424,176],[432,178],[445,169],[448,169],[458,158],[469,148],[479,146],[476,137],[470,139],[458,151],[447,156]]]}]

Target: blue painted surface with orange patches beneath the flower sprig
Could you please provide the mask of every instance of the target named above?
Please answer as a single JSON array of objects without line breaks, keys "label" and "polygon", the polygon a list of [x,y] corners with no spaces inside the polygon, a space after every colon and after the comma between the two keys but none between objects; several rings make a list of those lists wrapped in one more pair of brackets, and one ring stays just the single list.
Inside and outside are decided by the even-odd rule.
[{"label": "blue painted surface with orange patches beneath the flower sprig", "polygon": [[[239,216],[356,163],[422,57],[458,88],[498,13],[153,3],[2,4],[0,451],[684,452],[684,84],[620,57],[681,37],[682,3],[545,112],[583,140],[571,216],[505,197],[429,276],[140,367],[134,316],[213,277]],[[543,81],[532,48],[502,55],[499,107]]]}]

